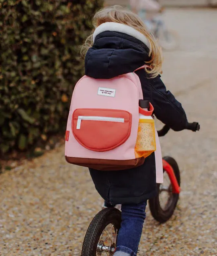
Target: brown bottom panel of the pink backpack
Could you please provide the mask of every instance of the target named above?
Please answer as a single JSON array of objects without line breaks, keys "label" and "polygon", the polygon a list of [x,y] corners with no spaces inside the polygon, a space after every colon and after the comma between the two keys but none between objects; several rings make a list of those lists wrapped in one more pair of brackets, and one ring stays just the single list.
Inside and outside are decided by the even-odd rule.
[{"label": "brown bottom panel of the pink backpack", "polygon": [[145,158],[137,158],[131,160],[107,160],[107,159],[92,159],[78,158],[65,156],[66,161],[70,164],[76,164],[100,171],[119,171],[135,168],[145,161]]}]

